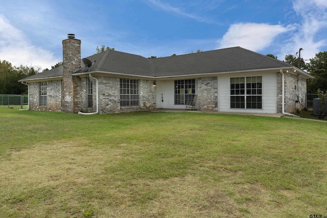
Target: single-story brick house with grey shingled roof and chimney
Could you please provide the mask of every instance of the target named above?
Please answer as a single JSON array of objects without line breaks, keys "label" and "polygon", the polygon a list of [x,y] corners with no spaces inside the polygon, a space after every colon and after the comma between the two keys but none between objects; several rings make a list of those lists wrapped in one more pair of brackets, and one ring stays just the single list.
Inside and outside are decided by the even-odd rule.
[{"label": "single-story brick house with grey shingled roof and chimney", "polygon": [[305,104],[307,72],[242,47],[149,59],[107,50],[81,61],[81,40],[62,41],[63,65],[24,78],[29,109],[112,113],[185,109],[292,113]]}]

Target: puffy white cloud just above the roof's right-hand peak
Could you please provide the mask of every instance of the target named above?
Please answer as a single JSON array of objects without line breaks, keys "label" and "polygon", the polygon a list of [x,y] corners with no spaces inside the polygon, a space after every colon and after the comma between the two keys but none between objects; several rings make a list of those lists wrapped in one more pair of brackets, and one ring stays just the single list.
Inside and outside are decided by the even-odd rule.
[{"label": "puffy white cloud just above the roof's right-hand peak", "polygon": [[240,46],[258,52],[268,47],[279,34],[293,30],[292,26],[269,25],[267,23],[235,23],[218,41],[219,48]]}]

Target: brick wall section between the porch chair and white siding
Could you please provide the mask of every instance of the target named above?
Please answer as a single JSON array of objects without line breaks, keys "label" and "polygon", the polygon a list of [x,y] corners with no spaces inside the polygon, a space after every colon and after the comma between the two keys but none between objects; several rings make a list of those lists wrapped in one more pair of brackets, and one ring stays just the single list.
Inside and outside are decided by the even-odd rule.
[{"label": "brick wall section between the porch chair and white siding", "polygon": [[218,111],[217,77],[198,79],[198,108],[200,111]]}]

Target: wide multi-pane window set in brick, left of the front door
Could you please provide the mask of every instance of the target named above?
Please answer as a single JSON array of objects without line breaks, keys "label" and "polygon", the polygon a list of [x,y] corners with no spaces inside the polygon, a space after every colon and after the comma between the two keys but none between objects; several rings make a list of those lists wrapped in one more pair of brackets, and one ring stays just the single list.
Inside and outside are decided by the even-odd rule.
[{"label": "wide multi-pane window set in brick, left of the front door", "polygon": [[121,106],[139,106],[139,80],[120,79]]}]

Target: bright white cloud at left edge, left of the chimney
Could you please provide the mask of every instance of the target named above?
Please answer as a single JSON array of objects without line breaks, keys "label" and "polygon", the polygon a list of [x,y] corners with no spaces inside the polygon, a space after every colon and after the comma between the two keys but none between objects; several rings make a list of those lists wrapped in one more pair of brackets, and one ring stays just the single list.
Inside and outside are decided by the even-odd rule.
[{"label": "bright white cloud at left edge, left of the chimney", "polygon": [[0,15],[0,59],[9,61],[17,67],[22,64],[42,69],[51,68],[61,61],[51,52],[31,44],[25,34],[13,27],[2,15]]}]

